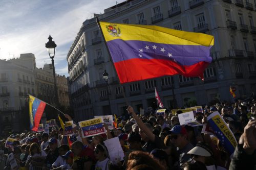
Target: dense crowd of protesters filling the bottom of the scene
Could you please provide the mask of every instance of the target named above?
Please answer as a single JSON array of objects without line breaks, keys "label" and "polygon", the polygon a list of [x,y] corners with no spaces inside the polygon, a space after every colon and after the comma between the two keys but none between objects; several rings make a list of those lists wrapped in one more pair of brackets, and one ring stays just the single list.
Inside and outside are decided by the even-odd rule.
[{"label": "dense crowd of protesters filling the bottom of the scene", "polygon": [[[237,100],[234,103],[217,103],[205,106],[195,119],[207,123],[207,116],[219,111],[236,137],[238,145],[229,154],[219,139],[202,133],[202,126],[180,125],[177,110],[175,114],[155,112],[140,115],[128,106],[130,117],[117,118],[117,127],[106,134],[83,138],[79,126],[69,139],[63,129],[50,133],[27,132],[11,134],[12,147],[6,148],[6,139],[1,140],[5,155],[13,153],[17,169],[256,169],[256,100]],[[72,118],[66,114],[68,120]],[[111,160],[104,140],[118,137],[124,157]],[[11,169],[4,159],[5,168]]]}]

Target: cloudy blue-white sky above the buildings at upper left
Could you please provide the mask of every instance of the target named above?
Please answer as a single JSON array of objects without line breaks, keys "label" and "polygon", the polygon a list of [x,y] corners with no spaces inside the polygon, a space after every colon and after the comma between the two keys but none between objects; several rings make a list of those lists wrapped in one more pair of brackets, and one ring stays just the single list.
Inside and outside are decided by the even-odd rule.
[{"label": "cloudy blue-white sky above the buildings at upper left", "polygon": [[114,0],[0,0],[0,59],[33,53],[36,67],[43,67],[51,63],[45,47],[51,34],[56,74],[67,77],[67,54],[82,22],[114,5]]}]

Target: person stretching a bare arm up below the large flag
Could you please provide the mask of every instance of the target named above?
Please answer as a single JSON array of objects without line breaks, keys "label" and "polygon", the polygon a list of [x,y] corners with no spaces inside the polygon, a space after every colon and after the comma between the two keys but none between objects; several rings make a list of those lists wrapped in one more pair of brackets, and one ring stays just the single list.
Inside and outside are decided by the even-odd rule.
[{"label": "person stretching a bare arm up below the large flag", "polygon": [[145,141],[144,146],[142,147],[144,151],[150,153],[153,149],[164,149],[165,145],[160,137],[153,134],[153,128],[150,124],[144,124],[142,120],[134,112],[132,106],[128,106],[127,112],[130,113],[133,118],[136,120],[140,130],[141,139]]}]

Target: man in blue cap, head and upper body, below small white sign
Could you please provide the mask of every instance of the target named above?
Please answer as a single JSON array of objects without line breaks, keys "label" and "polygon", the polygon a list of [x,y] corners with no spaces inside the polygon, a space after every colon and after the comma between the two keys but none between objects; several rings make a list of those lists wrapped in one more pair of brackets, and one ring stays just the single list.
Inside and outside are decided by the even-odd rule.
[{"label": "man in blue cap, head and upper body, below small white sign", "polygon": [[170,130],[170,138],[172,143],[177,147],[179,153],[179,165],[182,165],[191,159],[191,156],[187,154],[194,146],[188,141],[187,131],[185,127],[176,125]]}]

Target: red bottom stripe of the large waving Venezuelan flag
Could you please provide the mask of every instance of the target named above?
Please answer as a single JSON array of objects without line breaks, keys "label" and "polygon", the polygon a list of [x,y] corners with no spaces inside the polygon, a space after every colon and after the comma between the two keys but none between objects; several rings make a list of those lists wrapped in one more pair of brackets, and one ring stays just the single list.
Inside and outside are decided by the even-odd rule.
[{"label": "red bottom stripe of the large waving Venezuelan flag", "polygon": [[203,78],[208,62],[183,66],[177,62],[159,59],[131,59],[114,63],[120,83],[152,79],[162,76],[182,75]]}]

